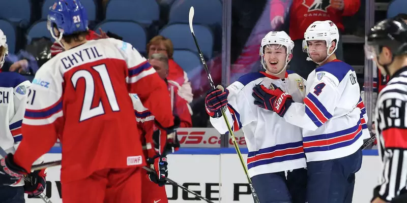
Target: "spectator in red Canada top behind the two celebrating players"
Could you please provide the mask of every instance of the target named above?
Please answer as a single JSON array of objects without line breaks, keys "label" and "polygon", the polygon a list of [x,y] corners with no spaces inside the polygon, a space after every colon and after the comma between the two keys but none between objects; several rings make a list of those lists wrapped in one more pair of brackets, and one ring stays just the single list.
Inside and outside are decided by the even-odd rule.
[{"label": "spectator in red Canada top behind the two celebrating players", "polygon": [[[288,0],[271,0],[272,5],[289,5]],[[275,9],[277,6],[271,7],[273,19],[270,19],[272,24],[283,23],[283,9]],[[281,7],[281,6],[279,6]],[[279,8],[278,7],[278,8]],[[315,69],[315,63],[307,61],[308,54],[302,50],[302,41],[304,40],[304,32],[307,27],[314,21],[331,20],[336,24],[339,31],[343,33],[344,27],[342,24],[342,16],[353,16],[358,12],[360,0],[294,0],[289,9],[289,31],[288,34],[294,41],[293,59],[290,61],[289,70],[298,73],[301,77],[307,78],[308,75]],[[340,33],[340,36],[341,36]],[[335,51],[336,57],[343,60],[342,40],[339,37],[338,48]]]}]

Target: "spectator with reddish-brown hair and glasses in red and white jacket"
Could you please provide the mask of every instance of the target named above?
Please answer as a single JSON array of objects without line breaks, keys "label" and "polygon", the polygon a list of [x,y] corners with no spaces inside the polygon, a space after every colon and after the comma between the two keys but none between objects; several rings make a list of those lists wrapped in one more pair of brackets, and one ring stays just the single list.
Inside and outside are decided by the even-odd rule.
[{"label": "spectator with reddish-brown hair and glasses in red and white jacket", "polygon": [[189,82],[187,73],[172,59],[174,48],[171,40],[163,36],[156,36],[147,44],[146,50],[148,58],[154,53],[164,54],[168,58],[167,79],[177,82],[177,85],[179,86],[178,94],[188,101],[188,109],[192,115],[192,109],[189,106],[189,103],[191,103],[193,99],[191,83]]}]

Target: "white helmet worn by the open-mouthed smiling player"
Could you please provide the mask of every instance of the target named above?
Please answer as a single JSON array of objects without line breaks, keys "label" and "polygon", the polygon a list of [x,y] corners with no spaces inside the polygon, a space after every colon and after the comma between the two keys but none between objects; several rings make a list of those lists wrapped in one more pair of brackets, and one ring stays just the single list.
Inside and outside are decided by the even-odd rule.
[{"label": "white helmet worn by the open-mouthed smiling player", "polygon": [[287,56],[285,58],[284,67],[277,74],[273,74],[273,75],[278,75],[278,74],[282,73],[283,71],[285,71],[285,69],[287,67],[287,64],[289,62],[288,57],[290,54],[293,53],[294,42],[287,35],[287,33],[285,33],[285,31],[271,31],[271,32],[267,33],[267,35],[263,38],[263,40],[261,40],[261,44],[260,44],[260,56],[261,56],[260,62],[261,62],[261,65],[263,65],[263,68],[266,70],[267,70],[267,65],[266,65],[266,61],[264,59],[264,50],[267,45],[281,45],[281,46],[285,47]]}]

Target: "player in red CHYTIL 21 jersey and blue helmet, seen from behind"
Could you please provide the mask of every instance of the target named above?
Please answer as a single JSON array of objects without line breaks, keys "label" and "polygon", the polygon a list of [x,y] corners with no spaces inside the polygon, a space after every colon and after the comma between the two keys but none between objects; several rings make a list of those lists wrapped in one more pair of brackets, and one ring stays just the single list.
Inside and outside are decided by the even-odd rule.
[{"label": "player in red CHYTIL 21 jersey and blue helmet, seen from behind", "polygon": [[146,165],[129,93],[137,93],[161,130],[175,132],[165,82],[129,43],[86,41],[79,0],[57,0],[48,29],[66,51],[37,72],[22,121],[24,139],[0,160],[0,179],[22,179],[38,157],[62,143],[64,202],[140,202]]}]

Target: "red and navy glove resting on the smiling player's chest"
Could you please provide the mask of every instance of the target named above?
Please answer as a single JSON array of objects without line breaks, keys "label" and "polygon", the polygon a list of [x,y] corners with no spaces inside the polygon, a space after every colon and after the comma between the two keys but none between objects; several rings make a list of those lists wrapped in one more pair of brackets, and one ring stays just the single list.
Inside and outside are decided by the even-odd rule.
[{"label": "red and navy glove resting on the smiling player's chest", "polygon": [[253,87],[252,96],[254,104],[260,108],[276,112],[283,117],[288,107],[293,103],[293,97],[279,87],[271,84],[271,89],[264,85],[256,85]]}]

